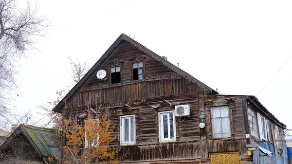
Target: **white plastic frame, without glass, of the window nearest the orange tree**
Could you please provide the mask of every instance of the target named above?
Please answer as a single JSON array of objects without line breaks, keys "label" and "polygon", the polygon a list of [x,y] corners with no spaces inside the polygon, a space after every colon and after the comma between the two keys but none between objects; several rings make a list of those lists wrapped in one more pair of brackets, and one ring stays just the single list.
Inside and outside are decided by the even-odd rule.
[{"label": "white plastic frame, without glass, of the window nearest the orange tree", "polygon": [[[125,118],[129,118],[129,120],[130,120],[130,118],[133,118],[133,121],[134,121],[134,131],[133,131],[133,141],[131,142],[131,139],[129,138],[129,142],[125,142],[124,141],[124,133],[125,133],[125,131],[124,131],[124,125],[125,125],[125,122],[124,122],[124,120],[125,120]],[[129,124],[129,137],[131,137],[131,135],[130,135],[130,124]],[[132,114],[132,115],[125,115],[125,116],[120,116],[120,145],[123,145],[123,146],[125,146],[125,145],[135,145],[135,143],[136,143],[136,119],[135,119],[135,114]]]}]

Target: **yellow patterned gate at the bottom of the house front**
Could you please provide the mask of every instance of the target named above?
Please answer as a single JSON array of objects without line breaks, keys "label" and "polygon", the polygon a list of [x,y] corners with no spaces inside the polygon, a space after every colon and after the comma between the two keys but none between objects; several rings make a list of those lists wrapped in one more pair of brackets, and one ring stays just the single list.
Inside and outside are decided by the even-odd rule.
[{"label": "yellow patterned gate at the bottom of the house front", "polygon": [[211,164],[240,164],[239,152],[210,153]]}]

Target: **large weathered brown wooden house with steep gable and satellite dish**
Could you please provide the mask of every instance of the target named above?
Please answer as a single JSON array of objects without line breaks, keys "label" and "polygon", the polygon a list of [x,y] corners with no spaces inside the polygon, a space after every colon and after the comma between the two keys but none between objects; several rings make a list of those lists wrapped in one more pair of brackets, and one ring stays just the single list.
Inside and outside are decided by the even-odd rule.
[{"label": "large weathered brown wooden house with steep gable and satellite dish", "polygon": [[121,163],[252,164],[246,145],[286,128],[255,96],[220,95],[125,34],[53,111],[67,119],[88,104],[111,109]]}]

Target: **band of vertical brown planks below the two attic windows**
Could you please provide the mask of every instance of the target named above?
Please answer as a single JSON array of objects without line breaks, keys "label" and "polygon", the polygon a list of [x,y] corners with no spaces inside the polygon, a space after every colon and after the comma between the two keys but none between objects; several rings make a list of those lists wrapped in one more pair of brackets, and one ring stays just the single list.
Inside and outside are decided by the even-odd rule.
[{"label": "band of vertical brown planks below the two attic windows", "polygon": [[125,103],[141,103],[149,98],[195,94],[196,91],[201,91],[201,88],[196,88],[186,79],[164,79],[111,88],[97,88],[90,91],[79,91],[66,105],[67,108],[76,108],[77,106],[86,106],[88,104],[95,105],[96,103],[119,106]]}]

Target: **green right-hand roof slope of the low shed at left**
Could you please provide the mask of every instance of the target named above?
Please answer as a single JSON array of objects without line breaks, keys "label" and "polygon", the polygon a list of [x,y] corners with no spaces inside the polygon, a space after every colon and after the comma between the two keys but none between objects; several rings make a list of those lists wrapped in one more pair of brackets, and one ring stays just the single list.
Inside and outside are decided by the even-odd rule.
[{"label": "green right-hand roof slope of the low shed at left", "polygon": [[[29,135],[42,156],[54,158],[53,153],[60,156],[54,129],[24,125],[23,130]],[[53,142],[53,145],[51,142]]]}]

